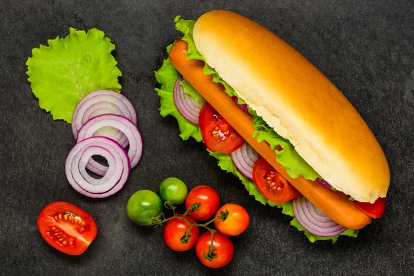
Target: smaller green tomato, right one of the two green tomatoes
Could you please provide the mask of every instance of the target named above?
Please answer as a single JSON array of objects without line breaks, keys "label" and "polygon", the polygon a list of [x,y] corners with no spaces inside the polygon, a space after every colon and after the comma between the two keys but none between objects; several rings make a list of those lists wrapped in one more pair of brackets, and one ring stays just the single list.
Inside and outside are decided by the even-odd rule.
[{"label": "smaller green tomato, right one of the two green tomatoes", "polygon": [[181,204],[186,200],[187,186],[178,178],[167,178],[159,185],[159,197],[163,202],[169,200],[173,205]]}]

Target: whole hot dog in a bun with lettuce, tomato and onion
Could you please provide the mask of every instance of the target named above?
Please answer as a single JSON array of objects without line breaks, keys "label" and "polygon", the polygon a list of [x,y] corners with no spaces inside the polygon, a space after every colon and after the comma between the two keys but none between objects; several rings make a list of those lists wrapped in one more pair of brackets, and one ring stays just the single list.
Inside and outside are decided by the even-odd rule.
[{"label": "whole hot dog in a bun with lettuce, tomato and onion", "polygon": [[355,237],[346,229],[381,217],[389,186],[384,152],[315,66],[234,12],[207,12],[197,21],[177,17],[175,23],[184,37],[168,47],[155,76],[161,115],[176,117],[183,139],[202,139],[250,195],[295,215],[291,224],[308,231],[311,242]]}]

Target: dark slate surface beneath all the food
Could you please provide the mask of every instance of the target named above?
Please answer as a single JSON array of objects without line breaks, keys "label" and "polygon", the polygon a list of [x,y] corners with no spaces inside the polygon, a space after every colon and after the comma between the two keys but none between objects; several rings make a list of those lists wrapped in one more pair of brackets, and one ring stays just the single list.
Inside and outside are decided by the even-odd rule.
[{"label": "dark slate surface beneath all the food", "polygon": [[[181,141],[174,119],[159,115],[152,72],[178,35],[172,19],[197,19],[217,8],[255,19],[302,52],[380,141],[391,168],[386,214],[357,239],[311,244],[288,217],[254,201],[235,177],[219,170],[203,144]],[[408,0],[1,1],[0,274],[413,275],[413,14]],[[83,197],[66,181],[70,125],[39,108],[25,74],[31,49],[65,37],[69,27],[99,28],[114,41],[122,92],[137,109],[144,137],[144,155],[128,185],[104,200]],[[205,268],[193,251],[172,252],[161,228],[140,228],[126,217],[135,190],[155,190],[171,176],[190,188],[212,186],[223,203],[248,209],[250,227],[233,238],[235,257],[226,268]],[[97,238],[79,257],[59,253],[37,231],[43,206],[58,200],[85,208],[97,221]]]}]

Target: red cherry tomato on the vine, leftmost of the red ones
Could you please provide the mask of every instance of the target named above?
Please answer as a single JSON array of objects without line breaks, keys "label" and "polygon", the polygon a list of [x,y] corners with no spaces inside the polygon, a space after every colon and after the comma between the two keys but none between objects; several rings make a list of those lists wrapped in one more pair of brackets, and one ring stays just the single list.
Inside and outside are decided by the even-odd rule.
[{"label": "red cherry tomato on the vine, leftmost of the red ones", "polygon": [[[178,215],[179,217],[183,217],[183,215]],[[193,224],[195,224],[195,220],[191,217],[186,216],[186,219]],[[184,235],[190,229],[190,224],[182,219],[170,219],[167,221],[166,228],[164,228],[164,241],[166,242],[167,246],[175,251],[186,251],[192,248],[197,242],[197,238],[199,235],[199,228],[198,226],[193,226],[190,230],[190,239],[184,241]]]}]

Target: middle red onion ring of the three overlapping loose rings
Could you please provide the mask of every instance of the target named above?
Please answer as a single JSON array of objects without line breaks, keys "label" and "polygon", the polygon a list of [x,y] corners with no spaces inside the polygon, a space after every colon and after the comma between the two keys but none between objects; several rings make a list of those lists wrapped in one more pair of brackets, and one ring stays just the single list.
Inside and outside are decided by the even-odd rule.
[{"label": "middle red onion ring of the three overlapping loose rings", "polygon": [[[141,134],[139,133],[137,126],[126,117],[115,114],[103,114],[93,117],[86,121],[86,123],[79,130],[77,141],[82,141],[83,139],[92,137],[93,134],[99,130],[99,128],[104,126],[112,126],[112,128],[117,128],[121,132],[124,132],[124,135],[128,138],[130,146],[128,150],[128,157],[131,162],[130,166],[131,168],[137,166],[142,154]],[[102,166],[92,158],[89,160],[88,165],[89,166],[86,168],[92,172],[95,172],[95,168],[95,173],[97,173],[97,175],[103,175],[108,170],[108,167]]]}]

